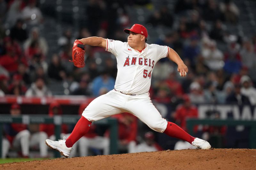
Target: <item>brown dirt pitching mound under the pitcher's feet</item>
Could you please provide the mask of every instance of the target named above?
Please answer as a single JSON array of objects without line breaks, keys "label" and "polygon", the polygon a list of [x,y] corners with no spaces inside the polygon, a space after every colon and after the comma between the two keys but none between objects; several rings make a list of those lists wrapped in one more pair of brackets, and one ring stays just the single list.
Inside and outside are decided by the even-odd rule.
[{"label": "brown dirt pitching mound under the pitcher's feet", "polygon": [[256,169],[256,149],[141,152],[7,163],[0,169]]}]

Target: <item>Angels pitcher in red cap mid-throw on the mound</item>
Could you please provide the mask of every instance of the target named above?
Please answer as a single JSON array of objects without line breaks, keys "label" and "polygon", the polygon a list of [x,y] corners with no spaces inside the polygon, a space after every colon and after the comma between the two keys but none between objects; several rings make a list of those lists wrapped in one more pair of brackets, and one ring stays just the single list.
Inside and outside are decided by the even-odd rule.
[{"label": "Angels pitcher in red cap mid-throw on the mound", "polygon": [[146,43],[148,31],[143,25],[134,24],[130,29],[124,29],[124,32],[128,34],[127,42],[101,37],[88,37],[74,42],[73,57],[76,57],[79,48],[83,50],[80,54],[84,52],[84,45],[105,48],[116,57],[115,86],[107,94],[94,99],[84,109],[82,117],[67,139],[47,139],[45,143],[68,157],[72,146],[88,132],[92,122],[128,112],[157,132],[185,140],[201,149],[210,149],[211,145],[207,141],[192,137],[175,123],[162,118],[149,97],[152,71],[160,59],[168,57],[178,65],[180,76],[186,76],[188,67],[180,56],[170,47]]}]

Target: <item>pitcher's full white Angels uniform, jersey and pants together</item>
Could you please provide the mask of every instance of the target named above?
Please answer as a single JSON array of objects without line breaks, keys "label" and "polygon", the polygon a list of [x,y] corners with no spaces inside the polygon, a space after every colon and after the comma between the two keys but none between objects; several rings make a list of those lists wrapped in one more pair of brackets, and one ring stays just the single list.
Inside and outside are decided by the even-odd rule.
[{"label": "pitcher's full white Angels uniform, jersey and pants together", "polygon": [[168,55],[169,48],[146,43],[145,49],[140,53],[127,42],[109,39],[106,41],[106,50],[114,54],[117,60],[116,90],[94,99],[82,115],[93,122],[128,112],[149,128],[163,133],[168,123],[151,102],[148,90],[154,66],[159,59]]}]

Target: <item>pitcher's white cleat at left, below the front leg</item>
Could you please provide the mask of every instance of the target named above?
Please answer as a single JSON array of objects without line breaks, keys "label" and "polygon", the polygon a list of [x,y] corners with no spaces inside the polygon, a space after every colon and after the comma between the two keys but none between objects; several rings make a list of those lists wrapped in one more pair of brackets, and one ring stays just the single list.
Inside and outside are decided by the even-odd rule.
[{"label": "pitcher's white cleat at left, below the front leg", "polygon": [[65,137],[63,137],[63,140],[58,140],[58,141],[52,141],[50,139],[45,140],[45,144],[47,146],[49,146],[51,149],[59,151],[62,156],[65,156],[66,158],[68,158],[70,152],[72,151],[72,147],[68,148],[65,142],[66,142]]}]

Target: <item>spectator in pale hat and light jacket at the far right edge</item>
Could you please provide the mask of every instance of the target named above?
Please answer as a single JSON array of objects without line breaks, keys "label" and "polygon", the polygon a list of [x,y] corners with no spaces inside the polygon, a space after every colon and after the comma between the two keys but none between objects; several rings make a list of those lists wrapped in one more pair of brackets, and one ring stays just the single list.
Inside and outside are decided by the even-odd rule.
[{"label": "spectator in pale hat and light jacket at the far right edge", "polygon": [[252,105],[256,105],[256,89],[252,86],[252,81],[249,76],[242,76],[240,79],[242,85],[241,94],[249,98]]}]

